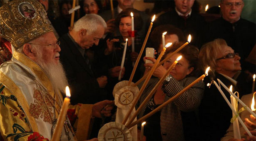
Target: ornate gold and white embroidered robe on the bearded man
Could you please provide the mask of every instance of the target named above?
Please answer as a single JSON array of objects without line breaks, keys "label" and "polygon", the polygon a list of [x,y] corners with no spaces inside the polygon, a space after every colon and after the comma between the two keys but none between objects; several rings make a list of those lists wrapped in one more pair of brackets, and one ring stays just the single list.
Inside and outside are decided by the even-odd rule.
[{"label": "ornate gold and white embroidered robe on the bearded man", "polygon": [[[42,95],[35,81],[17,64],[32,74],[48,95]],[[49,97],[54,97],[55,101]],[[41,139],[50,140],[52,117],[56,116],[57,119],[62,100],[62,95],[54,91],[42,68],[15,51],[12,60],[0,67],[0,141],[29,141],[38,135],[35,132],[43,136]],[[71,131],[69,133],[71,141],[87,139],[93,122],[91,113],[92,105],[70,105],[68,117],[76,130],[76,136],[72,136]],[[63,128],[62,141],[67,140]]]}]

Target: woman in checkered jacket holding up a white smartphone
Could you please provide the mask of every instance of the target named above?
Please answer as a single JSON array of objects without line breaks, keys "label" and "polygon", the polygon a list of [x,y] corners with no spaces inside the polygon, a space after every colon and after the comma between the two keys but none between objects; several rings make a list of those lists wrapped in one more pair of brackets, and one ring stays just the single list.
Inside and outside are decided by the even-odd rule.
[{"label": "woman in checkered jacket holding up a white smartphone", "polygon": [[[170,53],[174,52],[183,43],[174,43],[172,47],[167,48],[162,59],[166,58]],[[138,114],[138,119],[148,114],[162,103],[169,100],[178,92],[183,90],[187,85],[196,80],[196,66],[198,62],[199,50],[195,46],[186,46],[181,49],[174,56],[164,62],[163,66],[159,66],[153,73],[156,78],[151,78],[147,84],[142,96],[139,98],[137,107],[142,104],[144,99],[149,95],[154,86],[157,84],[160,78],[166,73],[167,69],[176,60],[176,58],[182,55],[181,60],[172,69],[169,76],[165,79],[164,83],[157,88],[157,91],[149,99],[146,105],[142,108]],[[147,58],[155,63],[156,59]],[[152,67],[153,63],[146,63],[145,67]],[[139,89],[142,87],[143,82],[138,85]],[[148,119],[144,125],[144,136],[147,141],[198,141],[196,130],[198,126],[188,125],[186,122],[196,122],[191,116],[190,119],[183,120],[182,112],[190,112],[195,110],[201,102],[201,98],[204,93],[204,82],[199,81],[189,90],[184,92],[176,100],[164,107],[159,112],[155,113]],[[138,125],[139,126],[139,125]],[[186,134],[187,129],[193,134]],[[198,129],[199,131],[199,129]]]}]

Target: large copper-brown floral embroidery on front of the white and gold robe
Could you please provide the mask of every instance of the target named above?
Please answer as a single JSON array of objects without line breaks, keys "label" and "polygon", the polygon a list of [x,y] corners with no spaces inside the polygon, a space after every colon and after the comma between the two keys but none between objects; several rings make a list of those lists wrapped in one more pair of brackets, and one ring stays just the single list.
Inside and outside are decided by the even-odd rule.
[{"label": "large copper-brown floral embroidery on front of the white and gold robe", "polygon": [[29,112],[32,117],[38,119],[43,118],[44,122],[52,123],[52,117],[53,117],[53,107],[52,103],[54,103],[53,100],[41,96],[39,90],[34,89],[34,95],[35,98],[34,102],[35,104],[30,104]]}]

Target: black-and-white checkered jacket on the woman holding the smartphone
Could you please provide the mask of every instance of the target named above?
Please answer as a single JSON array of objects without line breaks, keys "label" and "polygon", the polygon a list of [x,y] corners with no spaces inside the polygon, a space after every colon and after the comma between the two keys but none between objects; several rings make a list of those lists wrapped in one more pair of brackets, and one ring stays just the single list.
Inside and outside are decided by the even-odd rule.
[{"label": "black-and-white checkered jacket on the woman holding the smartphone", "polygon": [[[177,81],[172,77],[170,82],[162,87],[162,90],[166,93],[164,102],[176,95],[194,80],[196,80],[195,77],[186,77],[180,81]],[[142,96],[137,103],[137,107],[142,104],[144,99],[151,92],[158,81],[158,78],[152,78],[149,80],[149,83],[147,84],[144,92],[142,93]],[[144,82],[138,85],[139,89],[142,87],[143,83]],[[181,121],[181,111],[190,112],[199,107],[203,93],[204,82],[200,81],[161,110],[160,126],[163,141],[185,140],[183,124]],[[149,105],[149,102],[144,105],[141,112],[138,114],[138,118],[143,116],[147,105]]]}]

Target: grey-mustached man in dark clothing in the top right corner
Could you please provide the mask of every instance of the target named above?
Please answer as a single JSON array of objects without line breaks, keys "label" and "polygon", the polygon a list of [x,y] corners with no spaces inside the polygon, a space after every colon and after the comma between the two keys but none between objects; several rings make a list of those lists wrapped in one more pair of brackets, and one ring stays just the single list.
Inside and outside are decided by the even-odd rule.
[{"label": "grey-mustached man in dark clothing in the top right corner", "polygon": [[241,18],[244,1],[221,0],[220,7],[222,17],[207,26],[204,42],[206,43],[217,38],[224,39],[228,46],[239,53],[242,69],[255,72],[255,65],[253,67],[244,61],[255,46],[256,40],[255,24]]}]

